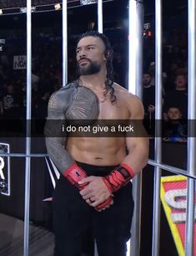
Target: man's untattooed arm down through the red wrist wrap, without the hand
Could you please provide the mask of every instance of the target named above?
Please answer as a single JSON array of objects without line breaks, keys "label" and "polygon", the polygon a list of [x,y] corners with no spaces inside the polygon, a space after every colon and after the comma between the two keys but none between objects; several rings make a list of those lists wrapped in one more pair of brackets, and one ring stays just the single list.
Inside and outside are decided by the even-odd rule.
[{"label": "man's untattooed arm down through the red wrist wrap, without the hand", "polygon": [[103,182],[111,193],[125,186],[142,171],[148,161],[148,136],[143,127],[143,104],[137,96],[131,96],[128,109],[131,114],[130,121],[133,123],[133,133],[128,132],[126,136],[128,155],[115,170],[103,177]]}]

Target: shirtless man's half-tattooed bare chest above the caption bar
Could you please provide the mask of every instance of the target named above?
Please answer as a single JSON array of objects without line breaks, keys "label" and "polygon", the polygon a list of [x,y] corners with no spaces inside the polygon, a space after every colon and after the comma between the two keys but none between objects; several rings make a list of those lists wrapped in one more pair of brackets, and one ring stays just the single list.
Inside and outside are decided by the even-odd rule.
[{"label": "shirtless man's half-tattooed bare chest above the caption bar", "polygon": [[103,92],[78,87],[65,116],[68,120],[128,120],[130,111],[126,100],[116,92],[115,96],[112,103],[109,93],[103,95]]}]

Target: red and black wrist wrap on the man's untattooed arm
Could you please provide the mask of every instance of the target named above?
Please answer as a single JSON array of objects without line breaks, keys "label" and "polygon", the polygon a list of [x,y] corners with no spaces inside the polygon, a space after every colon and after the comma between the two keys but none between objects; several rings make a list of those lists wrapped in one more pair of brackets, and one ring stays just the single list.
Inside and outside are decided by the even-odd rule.
[{"label": "red and black wrist wrap on the man's untattooed arm", "polygon": [[127,185],[133,177],[134,172],[132,168],[125,163],[121,163],[109,175],[103,177],[103,182],[108,187],[108,191],[112,194]]}]

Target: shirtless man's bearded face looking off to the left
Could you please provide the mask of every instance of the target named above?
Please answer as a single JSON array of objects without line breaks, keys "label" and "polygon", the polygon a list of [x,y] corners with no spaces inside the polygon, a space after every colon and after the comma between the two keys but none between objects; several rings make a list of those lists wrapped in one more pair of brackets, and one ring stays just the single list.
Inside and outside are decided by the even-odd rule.
[{"label": "shirtless man's bearded face looking off to the left", "polygon": [[104,56],[105,46],[102,39],[94,37],[82,38],[76,49],[78,74],[97,74],[106,63]]}]

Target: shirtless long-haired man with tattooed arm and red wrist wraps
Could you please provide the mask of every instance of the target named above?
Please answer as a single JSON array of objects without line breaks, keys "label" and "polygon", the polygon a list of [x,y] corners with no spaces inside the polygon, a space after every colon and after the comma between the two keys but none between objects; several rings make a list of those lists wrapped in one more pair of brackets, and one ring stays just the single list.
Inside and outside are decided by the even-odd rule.
[{"label": "shirtless long-haired man with tattooed arm and red wrist wraps", "polygon": [[61,120],[143,120],[143,105],[113,83],[112,49],[102,33],[83,34],[76,55],[78,79],[52,95],[45,126],[48,156],[61,173],[53,196],[54,255],[80,256],[93,230],[99,256],[125,256],[133,217],[130,180],[147,163],[148,138],[53,133],[61,134]]}]

